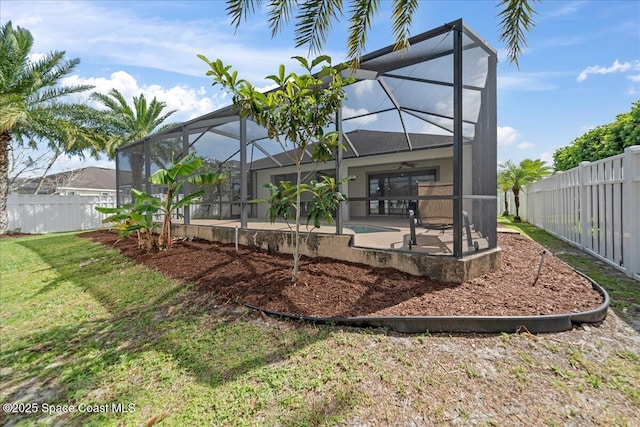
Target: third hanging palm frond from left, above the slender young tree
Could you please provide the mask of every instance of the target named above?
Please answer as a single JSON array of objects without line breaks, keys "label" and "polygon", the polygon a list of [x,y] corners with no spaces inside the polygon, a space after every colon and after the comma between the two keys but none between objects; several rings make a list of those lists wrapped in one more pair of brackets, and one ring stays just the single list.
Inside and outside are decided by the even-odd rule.
[{"label": "third hanging palm frond from left, above the slender young tree", "polygon": [[310,52],[319,53],[338,15],[342,15],[342,0],[307,0],[296,16],[296,47],[309,45]]}]

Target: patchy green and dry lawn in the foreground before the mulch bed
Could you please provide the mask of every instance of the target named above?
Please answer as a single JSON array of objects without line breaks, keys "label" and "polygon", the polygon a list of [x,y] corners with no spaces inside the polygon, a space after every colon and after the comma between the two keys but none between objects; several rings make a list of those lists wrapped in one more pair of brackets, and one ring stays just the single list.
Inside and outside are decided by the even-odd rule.
[{"label": "patchy green and dry lawn in the foreground before the mulch bed", "polygon": [[632,425],[640,406],[640,341],[612,340],[615,319],[546,337],[315,327],[73,233],[0,254],[1,400],[37,405],[1,425]]}]

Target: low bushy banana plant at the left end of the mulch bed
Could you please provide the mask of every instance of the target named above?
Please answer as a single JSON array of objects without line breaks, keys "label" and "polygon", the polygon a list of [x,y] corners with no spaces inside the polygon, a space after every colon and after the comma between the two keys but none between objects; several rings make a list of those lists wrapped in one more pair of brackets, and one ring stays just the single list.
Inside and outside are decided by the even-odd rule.
[{"label": "low bushy banana plant at the left end of the mulch bed", "polygon": [[98,206],[96,210],[108,215],[103,223],[113,223],[113,227],[120,231],[120,237],[128,237],[134,231],[138,236],[138,247],[150,250],[154,246],[153,215],[162,206],[160,199],[150,196],[144,191],[131,189],[134,203],[117,208]]}]

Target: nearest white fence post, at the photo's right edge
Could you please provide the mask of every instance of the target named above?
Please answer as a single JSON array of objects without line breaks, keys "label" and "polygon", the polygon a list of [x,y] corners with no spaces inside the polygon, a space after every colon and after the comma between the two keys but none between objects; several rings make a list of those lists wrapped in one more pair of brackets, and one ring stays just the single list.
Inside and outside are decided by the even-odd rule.
[{"label": "nearest white fence post, at the photo's right edge", "polygon": [[640,145],[627,147],[622,158],[623,262],[627,276],[640,275]]}]

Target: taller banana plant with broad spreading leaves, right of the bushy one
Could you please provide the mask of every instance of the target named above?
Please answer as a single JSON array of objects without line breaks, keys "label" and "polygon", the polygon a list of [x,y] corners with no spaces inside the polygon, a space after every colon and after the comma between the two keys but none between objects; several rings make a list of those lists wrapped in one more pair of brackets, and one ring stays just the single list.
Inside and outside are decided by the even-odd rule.
[{"label": "taller banana plant with broad spreading leaves, right of the bushy one", "polygon": [[207,184],[218,184],[226,179],[222,173],[200,173],[195,172],[202,167],[202,159],[195,153],[189,153],[178,163],[168,169],[158,169],[149,177],[149,181],[155,185],[167,187],[164,202],[160,205],[160,212],[164,215],[162,229],[158,236],[158,247],[160,249],[171,248],[173,241],[171,237],[171,218],[173,214],[189,204],[197,203],[197,199],[204,194],[204,190],[194,191],[184,195],[180,200],[178,196],[186,183],[197,186]]}]

